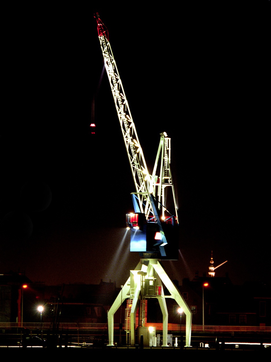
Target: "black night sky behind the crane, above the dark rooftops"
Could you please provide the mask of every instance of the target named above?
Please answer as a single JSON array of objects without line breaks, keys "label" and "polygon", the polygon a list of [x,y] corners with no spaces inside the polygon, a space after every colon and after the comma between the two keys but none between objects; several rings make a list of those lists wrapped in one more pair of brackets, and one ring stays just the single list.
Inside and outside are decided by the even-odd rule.
[{"label": "black night sky behind the crane, above the dark rooftops", "polygon": [[169,277],[208,272],[212,250],[215,266],[228,260],[217,276],[270,283],[265,10],[176,5],[7,9],[0,273],[119,286],[139,261],[128,239],[120,247],[134,185],[94,11],[150,172],[160,133],[171,137],[180,258],[163,262]]}]

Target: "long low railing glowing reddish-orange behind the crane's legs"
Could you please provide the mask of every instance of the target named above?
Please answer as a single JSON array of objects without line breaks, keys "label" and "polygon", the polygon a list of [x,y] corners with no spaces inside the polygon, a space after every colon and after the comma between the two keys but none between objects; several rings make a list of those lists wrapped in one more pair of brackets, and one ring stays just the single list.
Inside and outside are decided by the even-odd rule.
[{"label": "long low railing glowing reddish-orange behind the crane's legs", "polygon": [[[155,327],[157,331],[163,331],[163,323],[146,323],[146,327]],[[29,328],[38,329],[40,323],[6,323],[0,322],[0,329],[9,328]],[[52,323],[42,323],[42,329],[52,329]],[[105,331],[108,329],[107,323],[58,323],[59,329],[88,329],[88,330],[101,330]],[[114,329],[119,329],[119,323],[114,324]],[[168,323],[168,331],[179,332],[180,324]],[[185,325],[181,326],[181,331],[185,333]],[[271,332],[271,326],[248,326],[248,325],[192,325],[192,332]]]}]

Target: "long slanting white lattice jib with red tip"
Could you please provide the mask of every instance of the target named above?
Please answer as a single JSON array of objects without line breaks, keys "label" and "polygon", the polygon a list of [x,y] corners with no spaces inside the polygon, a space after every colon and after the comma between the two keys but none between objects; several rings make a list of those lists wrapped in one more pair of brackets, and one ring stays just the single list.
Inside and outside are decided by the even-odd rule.
[{"label": "long slanting white lattice jib with red tip", "polygon": [[136,186],[139,207],[141,212],[145,213],[146,216],[149,215],[150,210],[152,211],[152,214],[155,214],[149,200],[150,194],[153,191],[152,179],[147,171],[146,161],[138,140],[136,128],[134,126],[133,118],[122,87],[116,62],[113,57],[108,38],[108,30],[100,20],[98,13],[95,14],[95,18],[97,20],[98,35],[104,57],[104,66],[107,71],[111,91],[116,105],[117,115],[120,121],[134,184]]}]

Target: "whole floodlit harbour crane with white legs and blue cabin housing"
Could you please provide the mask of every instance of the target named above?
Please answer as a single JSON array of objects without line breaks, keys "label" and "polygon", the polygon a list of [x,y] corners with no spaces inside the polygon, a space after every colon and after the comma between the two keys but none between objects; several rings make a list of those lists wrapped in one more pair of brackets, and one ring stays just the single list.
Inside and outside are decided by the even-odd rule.
[{"label": "whole floodlit harbour crane with white legs and blue cabin housing", "polygon": [[[136,269],[130,270],[130,277],[108,311],[108,346],[114,345],[114,314],[125,299],[129,299],[125,315],[126,344],[136,344],[136,312],[139,308],[139,326],[144,327],[146,298],[157,298],[162,310],[163,346],[167,346],[168,333],[168,311],[165,299],[173,298],[176,300],[178,306],[183,309],[186,315],[186,346],[190,346],[192,312],[176,286],[165,273],[158,258],[160,256],[164,259],[168,258],[169,260],[173,260],[170,255],[168,256],[167,250],[169,249],[167,248],[173,244],[173,241],[171,242],[170,239],[174,239],[172,235],[175,234],[166,230],[167,227],[173,230],[178,226],[177,203],[170,168],[170,138],[167,137],[165,132],[160,134],[160,143],[154,170],[153,173],[150,174],[147,170],[136,127],[130,113],[120,75],[113,57],[108,38],[108,30],[101,21],[98,13],[94,14],[94,17],[97,21],[98,36],[103,52],[104,65],[111,85],[111,91],[115,101],[117,115],[119,117],[125,148],[136,188],[136,192],[132,193],[132,199],[134,214],[136,214],[137,217],[134,217],[134,214],[126,214],[126,223],[131,228],[130,250],[143,252],[142,258]],[[156,176],[160,158],[160,172],[159,176]],[[165,189],[167,188],[171,188],[172,190],[175,214],[170,214],[165,205]],[[151,240],[151,242],[148,240]],[[137,247],[138,249],[132,249],[133,243],[139,245]],[[177,244],[175,242],[174,245]],[[167,287],[169,295],[164,294],[162,282]]]}]

